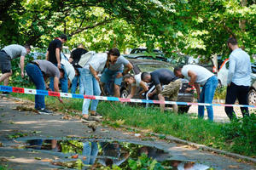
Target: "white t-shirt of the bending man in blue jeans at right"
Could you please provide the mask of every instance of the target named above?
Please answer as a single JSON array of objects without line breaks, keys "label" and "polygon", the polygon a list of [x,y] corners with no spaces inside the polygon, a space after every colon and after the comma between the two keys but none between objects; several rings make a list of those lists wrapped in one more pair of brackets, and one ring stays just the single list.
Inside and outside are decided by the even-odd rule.
[{"label": "white t-shirt of the bending man in blue jeans at right", "polygon": [[193,71],[197,75],[195,82],[201,84],[202,86],[207,82],[208,78],[214,76],[211,71],[200,65],[184,65],[182,69],[183,76],[190,81],[188,72]]}]

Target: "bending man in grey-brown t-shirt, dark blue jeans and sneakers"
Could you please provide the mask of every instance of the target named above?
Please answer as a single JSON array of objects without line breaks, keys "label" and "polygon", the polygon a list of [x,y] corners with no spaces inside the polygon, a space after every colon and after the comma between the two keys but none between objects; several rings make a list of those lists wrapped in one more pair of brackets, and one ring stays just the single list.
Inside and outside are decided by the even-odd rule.
[{"label": "bending man in grey-brown t-shirt, dark blue jeans and sneakers", "polygon": [[[47,77],[53,77],[55,92],[59,92],[59,79],[64,75],[63,69],[58,69],[47,60],[35,59],[32,63],[26,65],[25,70],[38,90],[49,89],[44,80],[46,80]],[[62,102],[61,97],[58,97],[58,99]],[[35,109],[40,114],[52,113],[45,108],[44,95],[35,95]]]}]

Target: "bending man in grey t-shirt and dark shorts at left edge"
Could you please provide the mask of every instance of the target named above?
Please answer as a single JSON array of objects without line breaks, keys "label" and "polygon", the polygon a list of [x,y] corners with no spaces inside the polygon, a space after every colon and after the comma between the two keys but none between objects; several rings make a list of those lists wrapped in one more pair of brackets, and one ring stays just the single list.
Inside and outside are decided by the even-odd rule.
[{"label": "bending man in grey t-shirt and dark shorts at left edge", "polygon": [[11,60],[20,57],[20,75],[24,77],[24,60],[26,54],[29,54],[31,48],[29,45],[24,47],[17,44],[6,46],[0,51],[0,70],[3,75],[0,82],[4,81],[4,86],[8,86],[9,77],[12,75]]}]

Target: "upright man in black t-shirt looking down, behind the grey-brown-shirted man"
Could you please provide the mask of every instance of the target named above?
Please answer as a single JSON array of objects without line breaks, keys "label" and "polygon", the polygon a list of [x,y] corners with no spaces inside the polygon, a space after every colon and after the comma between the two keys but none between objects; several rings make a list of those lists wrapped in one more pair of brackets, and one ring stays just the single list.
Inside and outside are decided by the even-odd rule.
[{"label": "upright man in black t-shirt looking down, behind the grey-brown-shirted man", "polygon": [[[55,38],[55,40],[49,42],[49,47],[46,53],[46,60],[49,60],[52,64],[56,65],[59,69],[63,68],[61,66],[61,48],[62,44],[67,42],[67,36],[62,34],[60,37]],[[61,91],[67,93],[67,75],[65,74],[60,80]],[[51,77],[49,82],[49,88],[54,90],[54,79]]]}]

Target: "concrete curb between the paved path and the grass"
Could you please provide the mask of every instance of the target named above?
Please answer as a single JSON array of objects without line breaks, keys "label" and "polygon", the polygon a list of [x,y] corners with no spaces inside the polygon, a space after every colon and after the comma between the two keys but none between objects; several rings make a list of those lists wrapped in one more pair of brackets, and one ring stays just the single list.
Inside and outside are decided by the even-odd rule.
[{"label": "concrete curb between the paved path and the grass", "polygon": [[[122,125],[120,127],[127,128],[124,125]],[[137,130],[137,131],[142,131],[143,130],[143,129],[139,129],[139,128],[136,128],[136,127],[129,127],[129,128]],[[154,136],[166,136],[166,134],[159,134],[159,133],[150,133],[150,134],[152,134]],[[255,158],[248,157],[248,156],[241,156],[239,154],[231,153],[229,151],[214,149],[214,148],[211,148],[211,147],[206,146],[204,144],[196,144],[196,143],[193,143],[193,142],[189,142],[188,140],[178,139],[178,138],[173,137],[173,136],[166,136],[166,139],[170,140],[174,143],[177,143],[177,144],[186,144],[186,145],[189,145],[189,146],[194,147],[196,149],[205,150],[205,151],[212,151],[212,152],[217,153],[217,154],[223,154],[225,156],[230,156],[232,158],[242,159],[242,160],[251,161],[253,163],[256,163]]]}]

